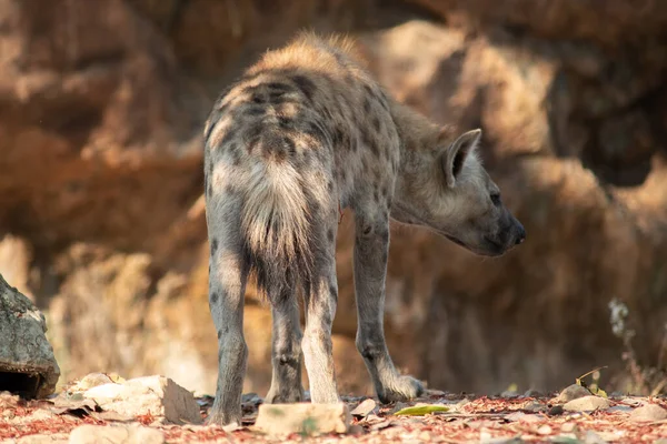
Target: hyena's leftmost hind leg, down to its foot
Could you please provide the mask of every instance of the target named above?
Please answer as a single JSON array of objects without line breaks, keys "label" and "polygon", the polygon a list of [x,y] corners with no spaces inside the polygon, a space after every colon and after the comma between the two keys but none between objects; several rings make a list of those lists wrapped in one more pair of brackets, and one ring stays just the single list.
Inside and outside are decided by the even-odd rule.
[{"label": "hyena's leftmost hind leg, down to its foot", "polygon": [[207,423],[226,425],[237,422],[240,425],[241,391],[248,362],[248,346],[243,337],[243,296],[249,263],[240,235],[240,203],[231,196],[219,199],[207,209],[211,249],[209,304],[218,332],[218,383]]}]

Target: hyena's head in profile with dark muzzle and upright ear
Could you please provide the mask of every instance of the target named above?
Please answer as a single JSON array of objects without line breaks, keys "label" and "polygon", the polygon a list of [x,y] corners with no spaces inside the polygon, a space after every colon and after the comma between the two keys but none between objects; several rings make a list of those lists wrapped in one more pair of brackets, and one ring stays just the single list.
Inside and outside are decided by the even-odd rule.
[{"label": "hyena's head in profile with dark muzzle and upright ear", "polygon": [[407,150],[397,178],[391,216],[427,226],[481,255],[496,256],[524,242],[526,231],[507,210],[500,190],[477,155],[481,130]]}]

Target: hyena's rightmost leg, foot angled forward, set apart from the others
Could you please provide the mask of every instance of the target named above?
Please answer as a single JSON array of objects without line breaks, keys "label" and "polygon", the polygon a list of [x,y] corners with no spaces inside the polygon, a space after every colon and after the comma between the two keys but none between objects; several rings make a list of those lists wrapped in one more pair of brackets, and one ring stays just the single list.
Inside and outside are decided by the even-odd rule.
[{"label": "hyena's rightmost leg, foot angled forward, set apart from the others", "polygon": [[389,249],[388,216],[371,219],[357,214],[356,225],[357,349],[364,356],[381,402],[417,397],[424,393],[424,386],[414,377],[399,375],[385,343],[382,315]]}]

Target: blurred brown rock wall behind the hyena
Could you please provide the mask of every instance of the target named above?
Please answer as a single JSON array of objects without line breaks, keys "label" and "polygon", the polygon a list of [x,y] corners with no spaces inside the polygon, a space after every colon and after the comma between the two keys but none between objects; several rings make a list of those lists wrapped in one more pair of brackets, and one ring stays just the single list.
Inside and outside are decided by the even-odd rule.
[{"label": "blurred brown rock wall behind the hyena", "polygon": [[[429,387],[665,393],[667,2],[0,0],[0,273],[47,315],[61,383],[166,374],[215,393],[202,128],[268,48],[355,36],[378,80],[482,155],[527,242],[495,260],[394,229],[386,322]],[[351,214],[338,239],[342,393],[355,350]],[[270,382],[249,289],[245,391]]]}]

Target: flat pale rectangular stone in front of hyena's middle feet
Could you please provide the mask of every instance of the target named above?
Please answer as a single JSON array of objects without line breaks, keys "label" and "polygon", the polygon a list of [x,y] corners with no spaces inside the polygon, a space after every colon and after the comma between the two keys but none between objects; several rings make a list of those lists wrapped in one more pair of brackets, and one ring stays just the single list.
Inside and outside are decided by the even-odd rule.
[{"label": "flat pale rectangular stone in front of hyena's middle feet", "polygon": [[271,435],[346,433],[351,423],[345,403],[261,404],[255,426]]}]

